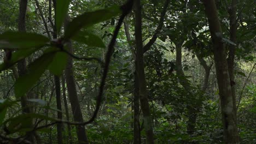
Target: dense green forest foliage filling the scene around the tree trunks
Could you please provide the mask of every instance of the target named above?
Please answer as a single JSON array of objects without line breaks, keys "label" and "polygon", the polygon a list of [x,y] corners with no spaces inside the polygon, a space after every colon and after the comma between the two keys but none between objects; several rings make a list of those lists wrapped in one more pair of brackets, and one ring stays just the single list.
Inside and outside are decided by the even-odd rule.
[{"label": "dense green forest foliage filling the scene around the tree trunks", "polygon": [[[56,1],[56,15],[49,1],[39,1],[38,8],[33,2],[28,3],[27,32],[16,32],[18,1],[0,3],[0,143],[20,140],[28,131],[37,131],[42,143],[57,143],[57,112],[62,112],[63,121],[67,113],[56,109],[55,86],[53,75],[63,78],[69,57],[74,58],[74,77],[78,98],[83,110],[84,121],[89,119],[97,103],[98,87],[104,67],[103,59],[106,45],[113,36],[117,16],[121,9],[117,5],[123,1]],[[188,2],[188,3],[187,3]],[[230,2],[230,1],[225,1]],[[236,45],[235,87],[237,93],[237,125],[241,143],[256,143],[256,86],[255,70],[251,67],[255,61],[255,3],[252,0],[240,2],[238,8],[237,41],[230,40],[229,15],[225,2],[218,1],[218,13],[223,28],[219,38],[228,47]],[[161,10],[165,1],[142,1],[142,33],[143,44],[147,44],[159,24]],[[52,7],[52,8],[51,8]],[[38,9],[47,15],[46,24]],[[63,22],[67,14],[71,22]],[[52,16],[53,15],[53,16]],[[52,17],[55,17],[53,20]],[[134,11],[125,22],[127,29],[121,27],[115,40],[115,50],[109,66],[106,87],[101,99],[100,112],[91,124],[86,125],[90,143],[132,143],[133,112],[135,94],[135,19]],[[54,27],[56,23],[56,29]],[[46,37],[46,33],[54,34],[57,39]],[[213,62],[213,45],[210,30],[206,22],[205,11],[201,2],[171,1],[165,16],[164,27],[157,32],[158,39],[144,53],[145,73],[149,108],[152,113],[154,139],[156,143],[222,143],[222,114],[220,112],[216,71],[212,68],[206,91],[202,91],[205,80],[199,58],[207,65]],[[71,42],[72,43],[69,43]],[[69,52],[72,44],[74,52]],[[182,44],[182,69],[185,76],[177,75],[176,47]],[[8,56],[8,51],[11,51]],[[226,53],[229,51],[227,50]],[[17,63],[26,59],[26,74],[15,77]],[[83,61],[82,59],[96,59]],[[188,80],[190,93],[179,82]],[[66,84],[64,83],[64,86]],[[61,87],[61,90],[65,87]],[[66,91],[63,91],[66,94]],[[31,113],[22,113],[20,101],[27,95]],[[66,97],[67,98],[67,97]],[[62,98],[63,99],[63,98]],[[67,99],[67,112],[72,115],[71,104]],[[187,133],[188,105],[196,104],[195,133]],[[65,105],[65,101],[62,101]],[[62,107],[63,107],[62,106]],[[65,107],[66,108],[66,107]],[[141,138],[146,139],[143,113],[140,112]],[[69,121],[73,122],[72,116]],[[65,120],[64,120],[65,119]],[[30,122],[40,127],[31,128]],[[62,123],[63,142],[68,139],[67,123]],[[3,137],[8,138],[4,140]],[[73,143],[77,142],[75,125],[71,124]],[[10,139],[10,140],[9,140]]]}]

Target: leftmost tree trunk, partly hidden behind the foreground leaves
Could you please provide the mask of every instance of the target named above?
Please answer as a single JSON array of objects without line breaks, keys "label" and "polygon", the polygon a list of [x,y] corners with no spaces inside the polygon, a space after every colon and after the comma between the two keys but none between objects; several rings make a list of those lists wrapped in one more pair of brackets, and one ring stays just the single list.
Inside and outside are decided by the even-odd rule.
[{"label": "leftmost tree trunk, partly hidden behind the foreground leaves", "polygon": [[[27,0],[20,1],[20,8],[19,8],[19,22],[18,22],[18,30],[19,32],[26,32],[26,13],[27,13]],[[22,59],[18,62],[18,74],[22,76],[26,73],[26,59]],[[23,95],[21,97],[21,107],[23,113],[30,113],[31,110],[27,103],[27,95]],[[32,119],[30,120],[30,128],[33,128]],[[34,143],[33,140],[33,132],[27,132],[27,141]]]}]

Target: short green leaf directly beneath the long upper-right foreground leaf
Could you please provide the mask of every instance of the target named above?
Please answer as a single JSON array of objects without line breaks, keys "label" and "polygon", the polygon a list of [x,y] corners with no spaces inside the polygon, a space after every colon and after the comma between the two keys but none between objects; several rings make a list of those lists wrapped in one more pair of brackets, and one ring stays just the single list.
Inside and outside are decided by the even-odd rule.
[{"label": "short green leaf directly beneath the long upper-right foreground leaf", "polygon": [[78,41],[79,43],[84,43],[88,46],[103,48],[106,47],[106,45],[103,43],[102,39],[98,37],[98,35],[92,34],[88,31],[79,32],[78,34],[74,35],[72,40]]}]

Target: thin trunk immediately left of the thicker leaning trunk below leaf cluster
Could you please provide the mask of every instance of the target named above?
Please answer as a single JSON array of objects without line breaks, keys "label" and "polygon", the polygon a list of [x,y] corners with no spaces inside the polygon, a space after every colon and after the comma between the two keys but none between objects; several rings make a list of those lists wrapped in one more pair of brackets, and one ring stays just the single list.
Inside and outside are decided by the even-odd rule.
[{"label": "thin trunk immediately left of the thicker leaning trunk below leaf cluster", "polygon": [[[63,101],[64,101],[64,106],[65,106],[65,112],[66,112],[66,120],[69,121],[69,112],[68,112],[68,105],[67,105],[67,98],[66,98],[66,88],[65,88],[65,77],[62,76],[62,96],[63,96]],[[67,143],[72,144],[72,135],[71,135],[71,127],[70,124],[67,124],[68,128],[68,141]]]}]

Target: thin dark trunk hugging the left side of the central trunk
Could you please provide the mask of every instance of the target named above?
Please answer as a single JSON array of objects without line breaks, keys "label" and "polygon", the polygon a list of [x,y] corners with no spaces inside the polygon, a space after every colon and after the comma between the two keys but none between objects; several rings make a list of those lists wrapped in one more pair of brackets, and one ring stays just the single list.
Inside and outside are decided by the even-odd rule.
[{"label": "thin dark trunk hugging the left side of the central trunk", "polygon": [[[130,32],[129,32],[129,24],[125,21],[124,22],[124,29],[125,29],[125,35],[127,42],[130,45],[130,49],[132,52],[133,60],[136,61],[136,56],[135,56],[135,49],[134,47],[130,44],[131,37],[130,37]],[[135,62],[136,63],[136,62]],[[134,94],[133,94],[133,143],[139,144],[141,143],[141,130],[140,130],[140,125],[139,125],[139,85],[138,85],[138,77],[136,74],[136,71],[134,73]]]}]

